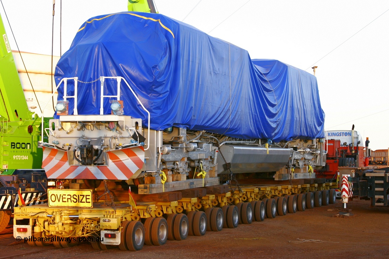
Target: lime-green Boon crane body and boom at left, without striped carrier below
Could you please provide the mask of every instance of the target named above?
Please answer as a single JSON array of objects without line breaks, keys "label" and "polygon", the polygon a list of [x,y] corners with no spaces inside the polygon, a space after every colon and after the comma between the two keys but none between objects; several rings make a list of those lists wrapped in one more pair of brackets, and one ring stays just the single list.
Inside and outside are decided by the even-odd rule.
[{"label": "lime-green Boon crane body and boom at left, without striped carrier below", "polygon": [[0,171],[12,174],[15,169],[41,169],[41,118],[28,110],[1,17],[0,34]]}]

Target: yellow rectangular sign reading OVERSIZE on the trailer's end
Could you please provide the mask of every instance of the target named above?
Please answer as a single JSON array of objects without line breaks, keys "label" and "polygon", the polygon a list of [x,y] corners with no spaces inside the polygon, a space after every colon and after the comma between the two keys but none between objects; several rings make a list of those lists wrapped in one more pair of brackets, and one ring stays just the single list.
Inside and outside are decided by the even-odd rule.
[{"label": "yellow rectangular sign reading OVERSIZE on the trailer's end", "polygon": [[92,190],[48,189],[49,207],[92,208]]}]

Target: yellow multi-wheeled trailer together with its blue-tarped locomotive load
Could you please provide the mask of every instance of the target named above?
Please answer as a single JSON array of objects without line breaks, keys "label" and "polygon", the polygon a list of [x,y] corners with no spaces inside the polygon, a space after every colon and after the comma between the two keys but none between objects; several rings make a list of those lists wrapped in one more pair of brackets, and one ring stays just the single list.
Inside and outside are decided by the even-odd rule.
[{"label": "yellow multi-wheeled trailer together with its blue-tarped locomotive load", "polygon": [[324,113],[309,73],[123,12],[86,21],[55,75],[41,146],[58,188],[14,212],[14,236],[30,245],[98,237],[96,249],[139,250],[335,202],[314,177]]}]

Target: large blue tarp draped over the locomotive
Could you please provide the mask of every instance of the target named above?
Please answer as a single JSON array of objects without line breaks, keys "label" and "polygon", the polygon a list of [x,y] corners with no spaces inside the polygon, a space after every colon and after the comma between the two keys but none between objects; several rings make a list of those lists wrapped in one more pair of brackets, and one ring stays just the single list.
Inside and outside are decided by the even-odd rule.
[{"label": "large blue tarp draped over the locomotive", "polygon": [[[155,130],[177,126],[273,142],[324,137],[313,75],[277,60],[251,59],[246,50],[161,14],[122,12],[81,26],[57,64],[56,83],[100,76],[124,77]],[[67,87],[72,95],[70,81]],[[104,91],[116,95],[116,80],[107,80]],[[124,114],[147,126],[147,114],[125,84],[121,100]],[[78,114],[100,114],[100,81],[78,83]],[[108,98],[104,114],[111,114]]]}]

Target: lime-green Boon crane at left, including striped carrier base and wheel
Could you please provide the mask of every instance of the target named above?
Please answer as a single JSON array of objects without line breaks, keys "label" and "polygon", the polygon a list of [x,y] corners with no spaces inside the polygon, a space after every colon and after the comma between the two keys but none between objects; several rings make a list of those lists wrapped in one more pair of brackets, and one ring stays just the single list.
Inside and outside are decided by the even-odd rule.
[{"label": "lime-green Boon crane at left, including striped carrier base and wheel", "polygon": [[[18,200],[29,206],[46,200],[42,170],[41,118],[27,107],[25,95],[0,17],[0,233],[10,221]],[[46,127],[48,119],[46,119]],[[47,140],[46,140],[47,141]],[[20,188],[21,194],[17,195]]]}]

